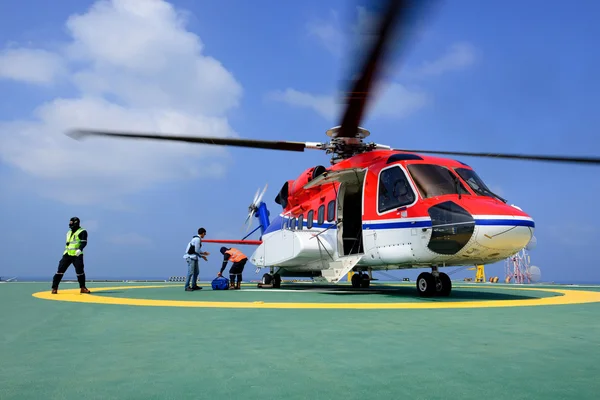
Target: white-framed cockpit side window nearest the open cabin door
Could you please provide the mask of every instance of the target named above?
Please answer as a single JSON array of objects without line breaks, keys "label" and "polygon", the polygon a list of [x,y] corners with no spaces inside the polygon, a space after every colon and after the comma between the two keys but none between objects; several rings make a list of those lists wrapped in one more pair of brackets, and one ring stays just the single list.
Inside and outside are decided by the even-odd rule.
[{"label": "white-framed cockpit side window nearest the open cabin door", "polygon": [[414,201],[415,193],[402,168],[394,166],[381,171],[377,200],[380,213],[407,206]]}]

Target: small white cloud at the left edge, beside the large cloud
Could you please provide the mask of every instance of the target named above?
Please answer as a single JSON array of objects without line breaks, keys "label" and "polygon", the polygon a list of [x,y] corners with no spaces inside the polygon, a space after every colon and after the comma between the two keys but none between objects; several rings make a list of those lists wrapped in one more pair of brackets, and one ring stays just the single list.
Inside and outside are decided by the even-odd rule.
[{"label": "small white cloud at the left edge, beside the large cloud", "polygon": [[62,58],[46,50],[6,49],[0,52],[0,79],[48,85],[65,72]]}]

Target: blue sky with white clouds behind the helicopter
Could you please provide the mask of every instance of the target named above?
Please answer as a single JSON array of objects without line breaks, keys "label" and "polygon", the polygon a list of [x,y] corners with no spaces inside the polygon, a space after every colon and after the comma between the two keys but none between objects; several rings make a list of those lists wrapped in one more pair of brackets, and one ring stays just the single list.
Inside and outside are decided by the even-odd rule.
[{"label": "blue sky with white clouds behind the helicopter", "polygon": [[[327,155],[64,133],[325,141],[339,124],[336,93],[360,6],[0,2],[0,276],[50,279],[73,216],[89,232],[89,278],[167,278],[186,273],[183,253],[199,227],[206,239],[245,236],[257,189],[268,185],[267,206],[280,212],[281,185],[327,166]],[[398,38],[402,49],[361,125],[395,148],[598,156],[598,12],[593,0],[439,2]],[[600,281],[598,167],[460,159],[534,218],[530,257],[542,280]],[[204,245],[212,254],[203,279],[220,268],[219,247]],[[244,271],[245,280],[261,275]],[[502,279],[504,263],[486,275]]]}]

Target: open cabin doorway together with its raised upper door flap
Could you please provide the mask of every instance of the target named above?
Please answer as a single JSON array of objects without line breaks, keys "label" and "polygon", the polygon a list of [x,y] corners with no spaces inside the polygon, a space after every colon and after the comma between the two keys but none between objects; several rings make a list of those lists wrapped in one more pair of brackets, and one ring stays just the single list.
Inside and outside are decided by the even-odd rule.
[{"label": "open cabin doorway together with its raised upper door flap", "polygon": [[364,254],[362,211],[366,169],[351,168],[326,172],[304,186],[305,189],[337,182],[338,256]]}]

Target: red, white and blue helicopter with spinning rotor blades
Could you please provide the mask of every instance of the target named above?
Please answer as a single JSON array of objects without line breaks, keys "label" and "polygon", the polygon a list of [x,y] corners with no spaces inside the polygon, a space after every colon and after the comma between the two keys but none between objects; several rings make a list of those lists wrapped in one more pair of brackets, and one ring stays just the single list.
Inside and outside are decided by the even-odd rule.
[{"label": "red, white and blue helicopter with spinning rotor blades", "polygon": [[[256,245],[250,261],[268,268],[264,287],[281,286],[282,277],[340,282],[349,272],[355,288],[368,288],[377,270],[427,268],[416,280],[420,296],[449,296],[451,266],[491,264],[525,248],[535,222],[521,208],[493,193],[469,165],[450,158],[471,156],[547,162],[600,164],[600,158],[461,151],[396,149],[367,142],[360,126],[382,75],[393,32],[405,27],[414,10],[410,1],[386,0],[375,20],[373,40],[344,96],[339,126],[326,131],[327,142],[270,141],[191,137],[75,129],[73,138],[104,136],[180,141],[253,149],[330,154],[330,165],[313,165],[283,183],[275,198],[281,212],[270,220],[256,193],[247,222],[259,220],[260,240],[203,242]],[[424,155],[433,154],[433,155]],[[439,155],[439,156],[434,156]],[[252,233],[253,233],[252,232]]]}]

